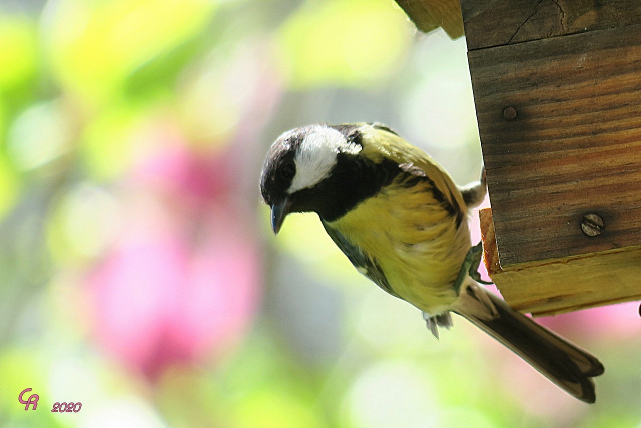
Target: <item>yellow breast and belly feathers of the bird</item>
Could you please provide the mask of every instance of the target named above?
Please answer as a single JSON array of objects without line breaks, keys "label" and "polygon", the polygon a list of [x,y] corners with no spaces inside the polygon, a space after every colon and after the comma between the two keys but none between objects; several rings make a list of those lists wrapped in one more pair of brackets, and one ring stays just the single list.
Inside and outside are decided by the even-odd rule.
[{"label": "yellow breast and belly feathers of the bird", "polygon": [[457,225],[429,182],[398,184],[329,224],[378,261],[397,295],[438,313],[456,299],[452,283],[470,248],[467,219]]}]

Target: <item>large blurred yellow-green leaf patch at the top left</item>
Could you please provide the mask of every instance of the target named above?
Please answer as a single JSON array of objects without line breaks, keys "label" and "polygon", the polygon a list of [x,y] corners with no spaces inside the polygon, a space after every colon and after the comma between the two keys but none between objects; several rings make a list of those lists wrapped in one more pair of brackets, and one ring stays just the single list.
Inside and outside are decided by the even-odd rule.
[{"label": "large blurred yellow-green leaf patch at the top left", "polygon": [[152,60],[203,30],[215,2],[62,0],[50,6],[46,42],[53,72],[88,106],[101,107],[123,95],[131,74],[144,73]]}]

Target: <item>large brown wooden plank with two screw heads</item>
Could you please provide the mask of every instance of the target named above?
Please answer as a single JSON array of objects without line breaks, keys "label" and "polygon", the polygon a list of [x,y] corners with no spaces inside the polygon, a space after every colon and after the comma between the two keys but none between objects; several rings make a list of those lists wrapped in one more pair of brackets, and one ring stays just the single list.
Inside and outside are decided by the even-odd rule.
[{"label": "large brown wooden plank with two screw heads", "polygon": [[[470,51],[469,64],[503,270],[641,244],[641,26]],[[588,213],[603,234],[583,234]]]}]

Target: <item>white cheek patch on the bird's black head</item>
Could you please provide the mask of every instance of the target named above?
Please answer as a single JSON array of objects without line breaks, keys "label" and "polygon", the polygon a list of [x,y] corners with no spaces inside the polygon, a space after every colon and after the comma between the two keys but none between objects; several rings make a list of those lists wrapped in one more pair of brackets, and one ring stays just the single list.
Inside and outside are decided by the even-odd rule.
[{"label": "white cheek patch on the bird's black head", "polygon": [[342,133],[333,128],[319,125],[312,129],[296,151],[296,176],[289,193],[314,187],[327,178],[336,165],[338,153],[356,155],[361,149],[361,146],[348,142]]}]

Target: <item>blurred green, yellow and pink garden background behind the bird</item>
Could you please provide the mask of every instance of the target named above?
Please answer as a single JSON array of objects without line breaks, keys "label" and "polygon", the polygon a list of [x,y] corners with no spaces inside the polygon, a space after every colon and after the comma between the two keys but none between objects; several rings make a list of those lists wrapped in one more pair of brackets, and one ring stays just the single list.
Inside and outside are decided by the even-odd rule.
[{"label": "blurred green, yellow and pink garden background behind the bird", "polygon": [[465,323],[433,341],[315,216],[271,235],[294,126],[387,123],[474,180],[465,58],[391,0],[0,3],[0,425],[640,425],[636,307],[547,321],[608,368],[590,407]]}]

